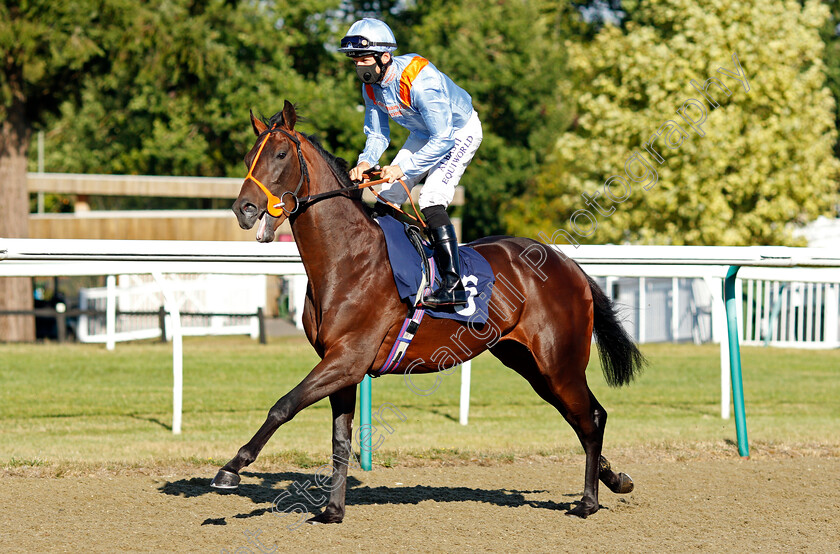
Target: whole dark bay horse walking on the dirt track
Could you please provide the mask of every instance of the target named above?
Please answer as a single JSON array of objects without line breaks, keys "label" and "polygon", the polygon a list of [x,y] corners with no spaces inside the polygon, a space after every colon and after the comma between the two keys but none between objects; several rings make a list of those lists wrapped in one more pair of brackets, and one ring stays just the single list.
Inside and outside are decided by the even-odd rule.
[{"label": "whole dark bay horse walking on the dirt track", "polygon": [[[213,487],[233,489],[284,423],[329,397],[333,416],[330,497],[311,523],[339,523],[345,514],[347,461],[352,455],[356,386],[375,374],[406,317],[391,275],[382,231],[353,187],[347,165],[317,141],[295,130],[295,107],[285,102],[268,121],[251,113],[257,140],[245,156],[248,176],[233,211],[243,229],[257,221],[257,240],[271,242],[289,219],[309,278],[303,324],[321,361],[269,410],[265,423],[218,472]],[[345,190],[346,189],[346,190]],[[306,195],[306,196],[304,196]],[[333,198],[327,198],[333,196]],[[497,277],[487,323],[466,324],[427,317],[396,373],[448,369],[489,350],[522,375],[574,429],[586,453],[583,498],[567,514],[598,511],[598,481],[615,493],[633,489],[601,455],[607,412],[586,383],[593,332],[612,386],[628,384],[645,359],[619,323],[614,306],[571,259],[536,241],[489,237],[468,246],[480,252]],[[533,255],[539,249],[539,267]],[[505,286],[499,286],[504,282]],[[518,302],[517,302],[518,300]],[[464,359],[441,356],[457,337]]]}]

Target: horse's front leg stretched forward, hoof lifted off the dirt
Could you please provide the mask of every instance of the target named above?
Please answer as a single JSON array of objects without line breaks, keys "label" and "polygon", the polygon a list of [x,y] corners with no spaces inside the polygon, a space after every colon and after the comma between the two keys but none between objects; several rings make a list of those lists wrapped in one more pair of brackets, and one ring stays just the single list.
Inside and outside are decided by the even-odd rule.
[{"label": "horse's front leg stretched forward, hoof lifted off the dirt", "polygon": [[239,449],[236,456],[219,470],[210,486],[217,489],[235,489],[238,487],[239,471],[257,459],[268,439],[281,425],[290,421],[307,406],[345,387],[357,385],[361,382],[362,377],[364,377],[363,370],[351,372],[346,370],[348,367],[366,367],[366,365],[360,364],[358,360],[340,355],[321,360],[321,363],[315,366],[300,384],[271,407],[265,423],[262,424],[253,438]]}]

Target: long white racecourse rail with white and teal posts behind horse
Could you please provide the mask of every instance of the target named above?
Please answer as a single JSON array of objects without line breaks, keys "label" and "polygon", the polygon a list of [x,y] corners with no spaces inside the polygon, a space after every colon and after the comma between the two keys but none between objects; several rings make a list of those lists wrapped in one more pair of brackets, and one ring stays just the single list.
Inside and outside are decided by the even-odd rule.
[{"label": "long white racecourse rail with white and teal posts behind horse", "polygon": [[[535,244],[523,258],[541,274],[546,246]],[[738,344],[735,277],[741,267],[810,267],[827,272],[827,280],[840,282],[840,252],[828,248],[782,246],[553,246],[579,262],[594,276],[661,276],[669,266],[674,277],[721,279],[722,290],[712,289],[725,305],[728,341],[721,340],[722,414],[728,415],[730,383],[738,450],[749,456],[746,416]],[[305,275],[294,243],[257,244],[214,241],[61,240],[0,238],[0,277],[151,274],[161,287],[164,304],[173,320],[173,415],[172,431],[181,431],[183,343],[178,306],[167,286],[165,274],[218,273],[245,275]],[[110,278],[113,283],[113,278]],[[113,310],[111,303],[110,310]],[[723,310],[719,311],[723,313]],[[113,318],[109,314],[108,318]],[[722,325],[722,318],[717,318]],[[113,348],[109,344],[109,348]],[[469,369],[462,372],[461,420],[465,422],[464,391],[469,391]],[[466,387],[464,386],[466,385]],[[361,425],[370,425],[370,377],[362,383]],[[723,408],[725,403],[726,408]],[[369,436],[368,436],[369,438]],[[368,446],[365,449],[365,446]],[[370,467],[370,447],[362,445],[363,466]]]}]

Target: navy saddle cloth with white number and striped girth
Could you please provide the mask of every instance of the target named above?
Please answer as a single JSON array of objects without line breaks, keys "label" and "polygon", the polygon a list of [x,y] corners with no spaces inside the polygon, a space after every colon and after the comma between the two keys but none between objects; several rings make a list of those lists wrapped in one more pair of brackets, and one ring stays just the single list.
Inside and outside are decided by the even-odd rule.
[{"label": "navy saddle cloth with white number and striped girth", "polygon": [[[414,338],[423,315],[428,313],[431,317],[454,319],[469,325],[483,325],[489,316],[490,296],[493,292],[495,277],[493,269],[484,256],[468,246],[459,246],[458,254],[461,260],[461,282],[467,290],[469,298],[467,305],[460,309],[431,310],[417,306],[416,303],[423,298],[424,289],[432,290],[427,286],[435,276],[439,274],[434,265],[432,248],[428,242],[422,241],[425,260],[420,257],[418,248],[409,239],[408,233],[416,233],[416,228],[397,221],[391,216],[380,216],[376,222],[385,235],[385,244],[388,249],[388,260],[394,273],[394,283],[397,285],[397,292],[400,300],[410,306],[409,315],[403,323],[400,334],[397,337],[388,359],[375,376],[383,375],[394,371],[402,361],[408,345]],[[430,268],[431,276],[426,275],[426,268]],[[435,285],[437,286],[437,284]]]}]

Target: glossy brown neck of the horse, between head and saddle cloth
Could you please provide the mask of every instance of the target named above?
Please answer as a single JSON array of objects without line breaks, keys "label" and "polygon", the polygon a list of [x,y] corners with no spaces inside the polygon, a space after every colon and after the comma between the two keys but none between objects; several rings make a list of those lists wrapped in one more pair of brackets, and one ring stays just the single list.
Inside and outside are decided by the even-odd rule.
[{"label": "glossy brown neck of the horse, between head and saddle cloth", "polygon": [[[341,188],[327,162],[320,156],[314,158],[307,159],[310,194]],[[321,186],[313,186],[316,184]],[[292,233],[314,291],[331,290],[332,284],[352,287],[356,276],[380,262],[377,258],[382,249],[373,247],[382,240],[376,223],[359,201],[345,195],[307,206],[292,223]]]}]

